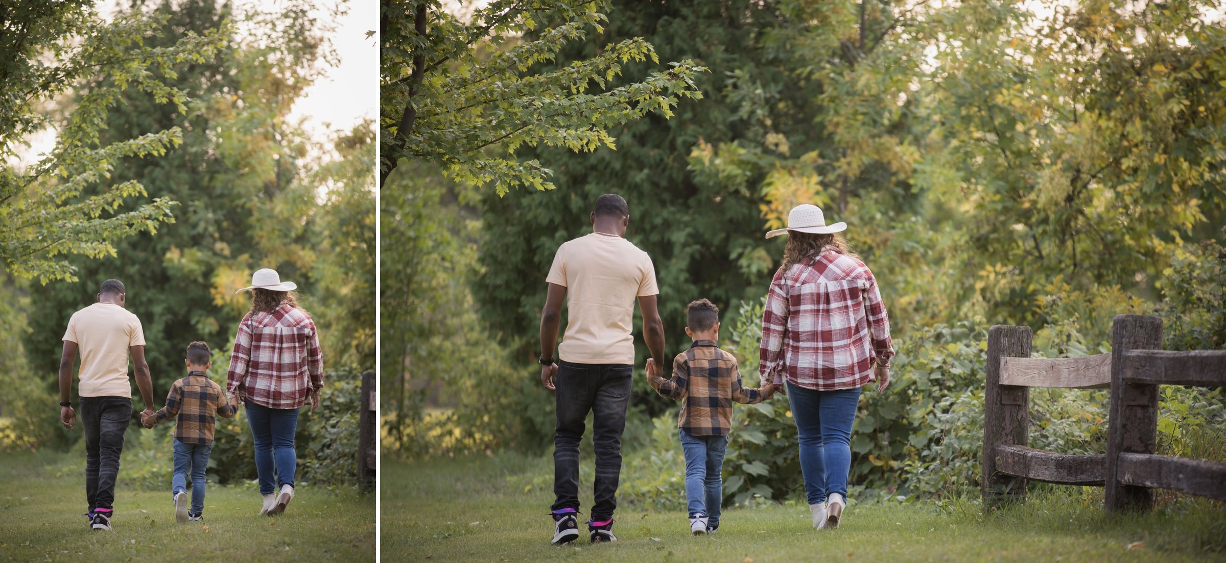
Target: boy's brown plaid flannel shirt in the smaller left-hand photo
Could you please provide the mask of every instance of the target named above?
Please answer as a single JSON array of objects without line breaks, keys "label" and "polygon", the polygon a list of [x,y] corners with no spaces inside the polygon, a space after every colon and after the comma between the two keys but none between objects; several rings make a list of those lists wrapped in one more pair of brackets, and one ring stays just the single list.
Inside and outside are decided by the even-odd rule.
[{"label": "boy's brown plaid flannel shirt in the smaller left-hand photo", "polygon": [[178,416],[174,437],[185,444],[208,446],[213,443],[213,414],[233,419],[238,406],[226,403],[222,387],[213,383],[202,371],[188,372],[188,377],[170,386],[166,406],[157,411],[154,423]]}]

